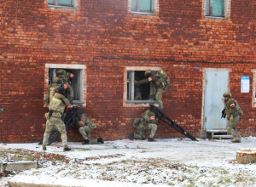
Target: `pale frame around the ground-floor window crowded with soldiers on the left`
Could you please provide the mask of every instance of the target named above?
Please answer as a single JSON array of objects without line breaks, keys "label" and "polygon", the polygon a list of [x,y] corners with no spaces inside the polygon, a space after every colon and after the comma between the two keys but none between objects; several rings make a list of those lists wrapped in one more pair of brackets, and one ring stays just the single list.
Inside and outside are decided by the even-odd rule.
[{"label": "pale frame around the ground-floor window crowded with soldiers on the left", "polygon": [[[75,70],[79,71],[79,82],[77,83],[77,86],[79,86],[79,100],[73,100],[73,105],[86,105],[86,65],[65,65],[65,64],[45,64],[45,73],[44,73],[44,107],[48,107],[48,104],[46,103],[46,99],[48,97],[48,85],[49,83],[52,83],[52,80],[49,80],[49,71],[53,70],[52,77],[56,77],[56,69],[65,69],[68,71]],[[73,88],[73,91],[75,92],[75,88]]]}]

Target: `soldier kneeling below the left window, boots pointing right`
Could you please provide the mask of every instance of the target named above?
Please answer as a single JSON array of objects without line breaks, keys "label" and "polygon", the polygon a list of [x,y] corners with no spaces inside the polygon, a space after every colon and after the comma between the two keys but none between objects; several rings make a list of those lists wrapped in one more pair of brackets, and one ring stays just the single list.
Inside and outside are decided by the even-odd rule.
[{"label": "soldier kneeling below the left window, boots pointing right", "polygon": [[90,133],[96,127],[96,124],[92,122],[90,120],[90,117],[86,114],[82,114],[79,116],[79,119],[76,122],[75,126],[79,128],[79,133],[81,133],[84,138],[83,144],[104,144],[102,137],[99,137],[98,139],[90,139]]}]

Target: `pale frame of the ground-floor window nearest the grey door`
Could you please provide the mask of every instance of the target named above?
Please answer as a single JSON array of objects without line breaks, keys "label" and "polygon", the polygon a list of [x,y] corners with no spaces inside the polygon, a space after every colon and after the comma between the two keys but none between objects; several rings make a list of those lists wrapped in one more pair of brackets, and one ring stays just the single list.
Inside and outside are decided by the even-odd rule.
[{"label": "pale frame of the ground-floor window nearest the grey door", "polygon": [[[132,90],[134,90],[134,75],[135,71],[146,71],[146,70],[151,70],[151,71],[160,71],[160,67],[152,67],[152,66],[126,66],[125,67],[125,72],[124,72],[124,99],[123,99],[123,106],[124,107],[133,107],[133,106],[148,106],[148,104],[155,104],[157,105],[157,101],[155,100],[134,100],[134,92],[132,94]],[[131,80],[128,80],[128,71],[131,71]],[[133,77],[132,77],[133,74]],[[130,82],[129,88],[127,88],[127,83]],[[131,91],[129,95],[131,95],[131,98],[133,100],[129,100],[127,98],[127,92],[128,90]],[[150,94],[152,94],[152,87],[150,87]],[[133,96],[133,97],[132,97]]]}]

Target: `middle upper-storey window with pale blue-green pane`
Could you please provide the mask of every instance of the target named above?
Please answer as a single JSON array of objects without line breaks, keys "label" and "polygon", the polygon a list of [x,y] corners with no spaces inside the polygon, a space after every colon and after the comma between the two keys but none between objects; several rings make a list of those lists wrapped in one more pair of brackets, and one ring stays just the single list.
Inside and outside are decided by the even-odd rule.
[{"label": "middle upper-storey window with pale blue-green pane", "polygon": [[152,13],[154,0],[131,0],[131,11]]}]

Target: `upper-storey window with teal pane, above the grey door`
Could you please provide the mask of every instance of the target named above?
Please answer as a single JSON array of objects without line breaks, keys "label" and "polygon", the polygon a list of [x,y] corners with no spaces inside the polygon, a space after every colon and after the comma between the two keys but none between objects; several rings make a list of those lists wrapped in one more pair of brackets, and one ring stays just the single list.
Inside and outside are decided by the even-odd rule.
[{"label": "upper-storey window with teal pane, above the grey door", "polygon": [[206,16],[224,17],[224,0],[206,0]]}]

